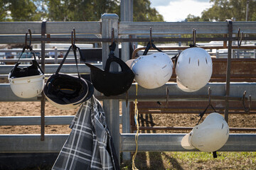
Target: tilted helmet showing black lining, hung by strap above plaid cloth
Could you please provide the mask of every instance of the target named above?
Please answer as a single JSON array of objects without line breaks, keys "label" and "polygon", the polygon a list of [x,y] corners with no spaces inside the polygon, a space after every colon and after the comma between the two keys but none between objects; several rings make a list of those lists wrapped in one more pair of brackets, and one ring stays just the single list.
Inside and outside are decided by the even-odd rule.
[{"label": "tilted helmet showing black lining, hung by strap above plaid cloth", "polygon": [[48,101],[53,104],[53,106],[64,110],[77,108],[82,102],[91,98],[94,92],[92,83],[82,79],[79,72],[78,77],[59,73],[71,48],[73,49],[75,63],[78,69],[76,50],[79,51],[80,55],[82,55],[82,52],[79,47],[73,44],[69,47],[68,52],[65,54],[65,57],[63,57],[57,71],[49,77],[46,86],[43,89]]}]

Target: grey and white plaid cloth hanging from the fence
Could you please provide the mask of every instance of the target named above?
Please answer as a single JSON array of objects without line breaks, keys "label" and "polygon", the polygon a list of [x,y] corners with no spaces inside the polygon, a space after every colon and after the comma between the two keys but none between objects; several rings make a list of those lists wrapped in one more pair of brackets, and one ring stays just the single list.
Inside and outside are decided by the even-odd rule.
[{"label": "grey and white plaid cloth hanging from the fence", "polygon": [[120,169],[105,113],[94,96],[82,103],[52,169]]}]

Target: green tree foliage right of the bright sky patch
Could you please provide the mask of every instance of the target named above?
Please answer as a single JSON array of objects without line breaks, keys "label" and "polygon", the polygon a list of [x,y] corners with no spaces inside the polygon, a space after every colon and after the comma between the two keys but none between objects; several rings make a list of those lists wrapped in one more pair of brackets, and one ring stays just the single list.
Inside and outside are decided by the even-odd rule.
[{"label": "green tree foliage right of the bright sky patch", "polygon": [[210,0],[211,8],[204,10],[201,17],[188,15],[186,21],[225,21],[235,18],[235,21],[245,21],[247,2],[247,21],[256,21],[256,1],[253,0]]}]

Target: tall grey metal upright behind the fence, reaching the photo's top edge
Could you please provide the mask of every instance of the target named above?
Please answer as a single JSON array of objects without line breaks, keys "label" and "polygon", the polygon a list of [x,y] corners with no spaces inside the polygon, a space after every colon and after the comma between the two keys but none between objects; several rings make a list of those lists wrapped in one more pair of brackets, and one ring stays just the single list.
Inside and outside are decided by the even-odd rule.
[{"label": "tall grey metal upright behind the fence, reaching the photo's top edge", "polygon": [[[133,0],[121,0],[121,21],[133,21]],[[129,38],[129,35],[124,35],[124,38]],[[130,59],[129,42],[122,42],[122,60],[126,62]],[[122,132],[130,133],[130,118],[129,118],[129,102],[122,101]],[[122,159],[128,161],[131,159],[130,152],[123,152]]]}]

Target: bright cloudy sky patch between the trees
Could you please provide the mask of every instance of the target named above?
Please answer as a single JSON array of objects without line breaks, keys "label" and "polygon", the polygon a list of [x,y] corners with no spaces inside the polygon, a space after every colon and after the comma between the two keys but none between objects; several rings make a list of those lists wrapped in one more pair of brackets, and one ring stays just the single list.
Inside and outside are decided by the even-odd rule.
[{"label": "bright cloudy sky patch between the trees", "polygon": [[184,21],[188,14],[201,16],[201,12],[210,8],[210,0],[150,0],[151,7],[164,16],[164,21]]}]

